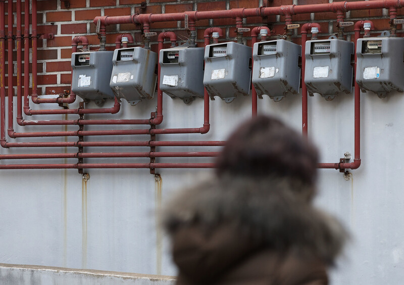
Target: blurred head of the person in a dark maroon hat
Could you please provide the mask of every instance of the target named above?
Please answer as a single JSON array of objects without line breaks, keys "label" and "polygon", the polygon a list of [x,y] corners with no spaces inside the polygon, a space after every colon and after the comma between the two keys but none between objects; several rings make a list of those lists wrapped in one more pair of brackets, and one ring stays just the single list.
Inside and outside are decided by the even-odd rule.
[{"label": "blurred head of the person in a dark maroon hat", "polygon": [[258,116],[233,131],[216,161],[216,174],[237,177],[287,177],[314,185],[316,148],[273,117]]}]

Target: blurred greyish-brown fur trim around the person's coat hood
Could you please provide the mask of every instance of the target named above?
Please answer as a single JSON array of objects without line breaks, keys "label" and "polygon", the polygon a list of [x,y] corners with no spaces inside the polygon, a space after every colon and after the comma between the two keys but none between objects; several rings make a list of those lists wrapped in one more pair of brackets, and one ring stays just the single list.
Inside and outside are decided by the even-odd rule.
[{"label": "blurred greyish-brown fur trim around the person's coat hood", "polygon": [[290,177],[211,177],[183,189],[165,207],[169,234],[189,225],[208,231],[232,225],[261,241],[263,248],[316,256],[332,264],[347,232],[332,216],[314,208],[315,189]]}]

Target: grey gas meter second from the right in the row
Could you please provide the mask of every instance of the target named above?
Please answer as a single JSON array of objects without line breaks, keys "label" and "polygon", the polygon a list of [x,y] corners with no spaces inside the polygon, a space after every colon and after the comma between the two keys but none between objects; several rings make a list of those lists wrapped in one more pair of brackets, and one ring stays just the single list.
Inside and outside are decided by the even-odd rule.
[{"label": "grey gas meter second from the right in the row", "polygon": [[310,96],[319,93],[332,100],[352,89],[351,55],[354,43],[342,39],[308,40],[306,42],[305,83]]}]

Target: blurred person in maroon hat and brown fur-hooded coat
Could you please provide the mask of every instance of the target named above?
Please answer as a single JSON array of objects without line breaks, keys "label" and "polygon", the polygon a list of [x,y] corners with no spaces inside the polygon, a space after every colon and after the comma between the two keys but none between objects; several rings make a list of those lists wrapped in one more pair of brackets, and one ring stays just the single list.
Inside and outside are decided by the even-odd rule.
[{"label": "blurred person in maroon hat and brown fur-hooded coat", "polygon": [[168,203],[177,284],[328,284],[347,233],[312,206],[318,153],[266,116],[239,126],[215,175]]}]

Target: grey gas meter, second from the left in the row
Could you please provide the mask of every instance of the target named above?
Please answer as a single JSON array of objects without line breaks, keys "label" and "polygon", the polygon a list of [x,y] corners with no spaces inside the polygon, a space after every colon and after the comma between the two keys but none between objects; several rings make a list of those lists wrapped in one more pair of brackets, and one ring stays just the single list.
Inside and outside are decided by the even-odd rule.
[{"label": "grey gas meter, second from the left in the row", "polygon": [[151,99],[156,88],[157,54],[137,46],[114,51],[112,75],[108,79],[117,98],[132,106]]}]

